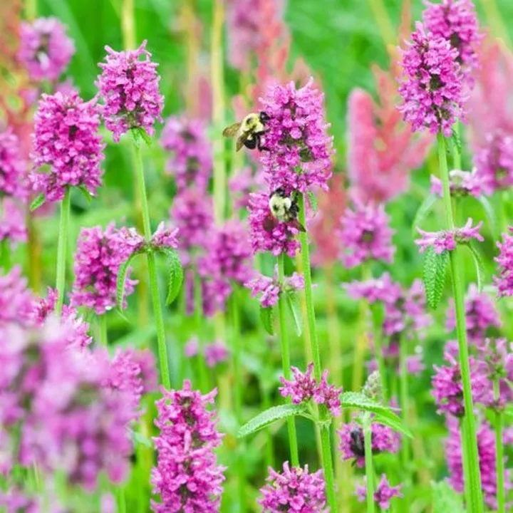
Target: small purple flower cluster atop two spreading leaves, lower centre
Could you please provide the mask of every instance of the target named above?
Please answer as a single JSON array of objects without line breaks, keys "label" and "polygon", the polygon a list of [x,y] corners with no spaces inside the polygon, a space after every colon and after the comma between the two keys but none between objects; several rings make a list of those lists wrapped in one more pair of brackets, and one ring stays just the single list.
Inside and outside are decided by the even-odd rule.
[{"label": "small purple flower cluster atop two spreading leaves, lower centre", "polygon": [[302,373],[296,367],[292,367],[291,371],[294,374],[294,380],[288,381],[283,377],[280,378],[283,386],[279,388],[279,391],[283,397],[290,396],[294,404],[301,404],[313,399],[317,404],[326,405],[334,417],[341,414],[342,388],[328,385],[328,371],[323,372],[320,383],[312,375],[313,363],[309,363],[306,373]]}]

